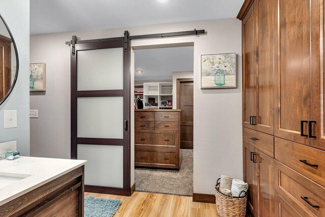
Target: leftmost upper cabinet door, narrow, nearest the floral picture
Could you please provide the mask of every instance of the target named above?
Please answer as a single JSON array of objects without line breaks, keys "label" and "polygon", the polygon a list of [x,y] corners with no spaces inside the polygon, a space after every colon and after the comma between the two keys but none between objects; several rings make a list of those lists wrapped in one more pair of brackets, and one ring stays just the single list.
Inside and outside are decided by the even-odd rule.
[{"label": "leftmost upper cabinet door, narrow, nearest the floral picture", "polygon": [[255,116],[256,108],[256,76],[255,76],[255,34],[253,6],[242,22],[243,50],[243,127],[254,129],[250,124],[251,116]]}]

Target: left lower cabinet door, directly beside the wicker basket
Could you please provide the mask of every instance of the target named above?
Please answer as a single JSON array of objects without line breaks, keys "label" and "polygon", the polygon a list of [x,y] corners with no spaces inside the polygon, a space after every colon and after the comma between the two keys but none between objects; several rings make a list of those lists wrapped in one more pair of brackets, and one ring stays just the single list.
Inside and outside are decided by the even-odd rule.
[{"label": "left lower cabinet door, directly beside the wicker basket", "polygon": [[[255,153],[255,148],[243,142],[244,181],[248,183],[247,211],[257,216],[257,167],[255,168],[256,163],[252,161],[252,153]],[[257,162],[256,157],[255,160]]]}]

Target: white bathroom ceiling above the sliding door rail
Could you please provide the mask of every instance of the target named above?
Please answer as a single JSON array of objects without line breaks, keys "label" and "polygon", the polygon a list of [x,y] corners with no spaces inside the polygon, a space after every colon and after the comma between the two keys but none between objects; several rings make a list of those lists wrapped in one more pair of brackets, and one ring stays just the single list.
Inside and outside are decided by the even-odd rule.
[{"label": "white bathroom ceiling above the sliding door rail", "polygon": [[30,0],[30,35],[236,17],[244,0]]}]

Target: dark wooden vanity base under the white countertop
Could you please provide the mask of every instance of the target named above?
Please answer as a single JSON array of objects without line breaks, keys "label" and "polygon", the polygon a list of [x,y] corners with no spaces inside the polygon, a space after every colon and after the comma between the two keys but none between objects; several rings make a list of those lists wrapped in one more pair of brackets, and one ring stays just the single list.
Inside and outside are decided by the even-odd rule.
[{"label": "dark wooden vanity base under the white countertop", "polygon": [[0,206],[0,216],[83,216],[84,166]]}]

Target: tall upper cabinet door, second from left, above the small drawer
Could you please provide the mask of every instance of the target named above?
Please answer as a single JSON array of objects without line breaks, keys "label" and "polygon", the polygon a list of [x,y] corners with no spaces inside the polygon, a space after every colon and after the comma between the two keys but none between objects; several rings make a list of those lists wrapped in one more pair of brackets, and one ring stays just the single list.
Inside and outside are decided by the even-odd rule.
[{"label": "tall upper cabinet door, second from left, above the small drawer", "polygon": [[273,10],[274,0],[257,0],[256,17],[256,120],[255,130],[274,134],[273,120]]}]

